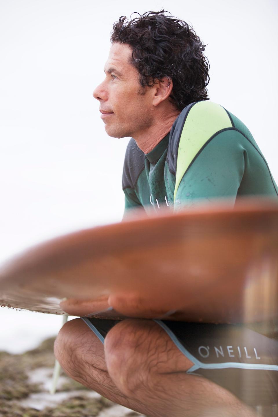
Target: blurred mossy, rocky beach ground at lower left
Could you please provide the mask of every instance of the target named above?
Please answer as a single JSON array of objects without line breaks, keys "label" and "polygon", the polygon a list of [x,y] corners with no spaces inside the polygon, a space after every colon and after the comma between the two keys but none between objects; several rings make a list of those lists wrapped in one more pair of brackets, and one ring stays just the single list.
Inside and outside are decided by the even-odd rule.
[{"label": "blurred mossy, rocky beach ground at lower left", "polygon": [[0,417],[143,417],[61,373],[50,394],[54,337],[23,354],[0,352]]}]

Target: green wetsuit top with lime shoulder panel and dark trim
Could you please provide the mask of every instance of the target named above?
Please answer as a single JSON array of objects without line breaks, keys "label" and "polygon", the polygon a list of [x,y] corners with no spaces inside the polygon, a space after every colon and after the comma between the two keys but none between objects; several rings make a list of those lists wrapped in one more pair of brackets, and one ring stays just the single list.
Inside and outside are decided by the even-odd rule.
[{"label": "green wetsuit top with lime shoulder panel and dark trim", "polygon": [[[248,128],[210,101],[186,106],[147,154],[130,139],[123,167],[125,214],[143,206],[178,210],[200,200],[272,196],[278,187]],[[124,216],[125,216],[124,214]]]}]

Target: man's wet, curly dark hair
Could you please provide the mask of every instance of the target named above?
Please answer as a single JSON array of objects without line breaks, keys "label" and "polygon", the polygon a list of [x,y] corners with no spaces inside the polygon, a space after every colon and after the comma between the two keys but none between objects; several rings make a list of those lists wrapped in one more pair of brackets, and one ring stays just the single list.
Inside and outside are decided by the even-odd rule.
[{"label": "man's wet, curly dark hair", "polygon": [[[146,12],[131,19],[121,16],[113,25],[111,43],[132,47],[130,63],[138,70],[143,88],[167,77],[173,82],[170,102],[182,110],[194,101],[209,100],[209,62],[205,46],[183,20],[160,12]],[[170,13],[169,13],[170,14]]]}]

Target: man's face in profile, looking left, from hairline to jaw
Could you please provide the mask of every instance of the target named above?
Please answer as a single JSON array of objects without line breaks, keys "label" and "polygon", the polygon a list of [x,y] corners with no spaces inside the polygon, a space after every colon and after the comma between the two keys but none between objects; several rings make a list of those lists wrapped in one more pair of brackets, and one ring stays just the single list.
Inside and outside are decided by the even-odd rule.
[{"label": "man's face in profile, looking left, from hairline to jaw", "polygon": [[114,138],[136,138],[153,124],[152,88],[141,87],[139,73],[129,62],[131,53],[128,44],[113,43],[105,79],[93,92],[100,102],[105,131]]}]

